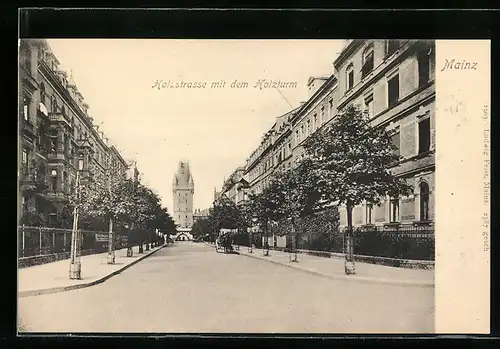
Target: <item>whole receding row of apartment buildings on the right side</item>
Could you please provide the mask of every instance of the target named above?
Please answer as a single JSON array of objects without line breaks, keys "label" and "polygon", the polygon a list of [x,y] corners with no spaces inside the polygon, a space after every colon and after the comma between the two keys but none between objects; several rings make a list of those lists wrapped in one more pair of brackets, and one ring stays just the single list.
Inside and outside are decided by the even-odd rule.
[{"label": "whole receding row of apartment buildings on the right side", "polygon": [[[349,104],[392,135],[400,162],[392,170],[414,190],[353,210],[355,226],[432,225],[435,202],[435,44],[423,40],[348,40],[329,77],[311,77],[309,98],[279,116],[246,161],[248,192],[259,194],[277,170],[296,166],[304,141],[335,122]],[[340,226],[347,212],[339,207]],[[286,237],[269,237],[284,247]]]}]

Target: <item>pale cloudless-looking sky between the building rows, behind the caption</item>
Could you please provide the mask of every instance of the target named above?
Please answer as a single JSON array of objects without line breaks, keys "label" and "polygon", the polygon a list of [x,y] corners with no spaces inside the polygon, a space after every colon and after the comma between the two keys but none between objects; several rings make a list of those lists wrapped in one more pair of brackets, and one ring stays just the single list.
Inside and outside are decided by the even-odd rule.
[{"label": "pale cloudless-looking sky between the building rows, behind the caption", "polygon": [[[259,79],[296,82],[280,89],[296,107],[310,76],[328,76],[341,40],[51,39],[61,68],[73,76],[95,124],[172,212],[172,178],[188,160],[194,208],[208,208],[237,166],[243,166],[277,116],[291,107]],[[206,82],[204,89],[162,88],[156,80]],[[211,88],[213,81],[224,88]],[[247,82],[247,88],[231,83]]]}]

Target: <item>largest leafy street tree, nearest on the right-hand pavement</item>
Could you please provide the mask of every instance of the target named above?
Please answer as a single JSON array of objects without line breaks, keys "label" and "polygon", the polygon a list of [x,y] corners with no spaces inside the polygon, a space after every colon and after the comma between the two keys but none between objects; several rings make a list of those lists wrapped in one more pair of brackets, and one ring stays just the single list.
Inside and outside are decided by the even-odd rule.
[{"label": "largest leafy street tree, nearest on the right-hand pavement", "polygon": [[347,210],[346,274],[354,273],[352,211],[366,202],[407,195],[411,187],[394,174],[399,160],[390,134],[372,127],[358,106],[348,105],[331,124],[305,142],[310,172],[321,191],[319,203],[344,205]]}]

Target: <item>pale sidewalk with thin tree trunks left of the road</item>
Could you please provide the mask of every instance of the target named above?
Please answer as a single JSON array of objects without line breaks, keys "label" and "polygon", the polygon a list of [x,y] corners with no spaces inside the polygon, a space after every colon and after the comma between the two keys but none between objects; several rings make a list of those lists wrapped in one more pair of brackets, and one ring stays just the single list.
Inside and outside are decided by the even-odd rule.
[{"label": "pale sidewalk with thin tree trunks left of the road", "polygon": [[69,279],[69,259],[18,269],[18,296],[69,291],[99,284],[165,246],[154,247],[150,251],[144,249],[141,254],[138,253],[139,247],[134,247],[132,257],[127,257],[126,248],[116,250],[113,265],[107,264],[107,252],[80,257],[81,280]]}]

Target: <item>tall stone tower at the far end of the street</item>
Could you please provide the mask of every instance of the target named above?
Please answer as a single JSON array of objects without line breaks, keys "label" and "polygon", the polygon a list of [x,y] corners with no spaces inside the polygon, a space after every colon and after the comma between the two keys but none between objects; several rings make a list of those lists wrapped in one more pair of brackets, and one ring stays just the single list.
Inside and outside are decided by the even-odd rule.
[{"label": "tall stone tower at the far end of the street", "polygon": [[179,162],[172,182],[172,193],[174,198],[172,218],[180,228],[191,228],[193,226],[194,182],[188,162]]}]

